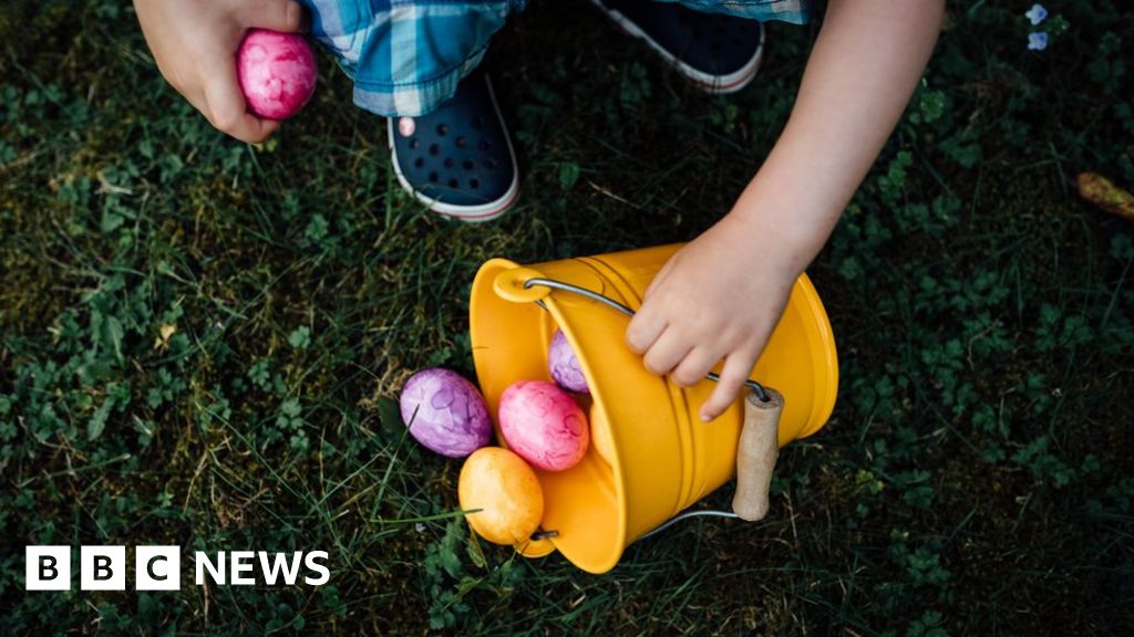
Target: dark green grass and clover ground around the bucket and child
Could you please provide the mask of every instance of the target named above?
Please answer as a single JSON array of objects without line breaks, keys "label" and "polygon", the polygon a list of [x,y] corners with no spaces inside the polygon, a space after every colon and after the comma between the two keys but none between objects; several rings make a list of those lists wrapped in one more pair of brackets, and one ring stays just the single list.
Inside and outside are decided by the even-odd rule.
[{"label": "dark green grass and clover ground around the bucket and child", "polygon": [[[810,272],[829,425],[767,521],[697,520],[593,577],[469,538],[408,373],[471,374],[467,292],[519,262],[686,240],[786,121],[814,28],[710,97],[583,6],[493,46],[519,205],[458,226],[396,187],[322,58],[263,147],[160,79],[117,2],[0,11],[0,631],[1093,634],[1134,628],[1134,186],[1119,3],[950,6],[925,82]],[[562,28],[569,24],[570,28]],[[1066,26],[1066,28],[1060,28]],[[727,487],[705,506],[726,508]],[[24,592],[27,544],[331,553],[323,587]]]}]

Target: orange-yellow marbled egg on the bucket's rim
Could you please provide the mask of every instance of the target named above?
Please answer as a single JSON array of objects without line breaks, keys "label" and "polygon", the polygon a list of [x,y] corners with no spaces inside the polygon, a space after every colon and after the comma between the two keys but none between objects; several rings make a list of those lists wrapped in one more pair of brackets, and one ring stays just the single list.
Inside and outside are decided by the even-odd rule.
[{"label": "orange-yellow marbled egg on the bucket's rim", "polygon": [[473,452],[460,468],[457,498],[465,519],[481,537],[496,544],[527,542],[543,519],[543,490],[535,472],[500,447]]}]

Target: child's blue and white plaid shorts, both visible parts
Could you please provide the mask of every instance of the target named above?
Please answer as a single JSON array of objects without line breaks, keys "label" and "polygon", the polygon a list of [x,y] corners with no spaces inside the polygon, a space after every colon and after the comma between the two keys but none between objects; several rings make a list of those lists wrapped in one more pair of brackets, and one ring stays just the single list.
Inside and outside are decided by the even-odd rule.
[{"label": "child's blue and white plaid shorts, both visible parts", "polygon": [[[492,35],[527,0],[299,0],[311,34],[354,80],[354,101],[395,117],[425,114],[480,65]],[[809,0],[662,0],[759,20],[806,23]]]}]

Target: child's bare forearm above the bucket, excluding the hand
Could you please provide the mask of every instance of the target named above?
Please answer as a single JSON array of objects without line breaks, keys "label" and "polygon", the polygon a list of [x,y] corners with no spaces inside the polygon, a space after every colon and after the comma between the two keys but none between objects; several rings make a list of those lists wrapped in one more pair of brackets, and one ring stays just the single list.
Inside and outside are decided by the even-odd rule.
[{"label": "child's bare forearm above the bucket, excluding the hand", "polygon": [[[942,0],[831,0],[782,135],[733,211],[798,275],[897,125],[941,25]],[[767,262],[767,261],[765,261]]]}]

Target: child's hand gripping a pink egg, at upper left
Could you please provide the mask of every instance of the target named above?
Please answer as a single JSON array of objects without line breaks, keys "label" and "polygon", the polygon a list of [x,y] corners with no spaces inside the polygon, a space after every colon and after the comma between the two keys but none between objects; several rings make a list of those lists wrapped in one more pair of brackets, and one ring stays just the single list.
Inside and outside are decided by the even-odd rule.
[{"label": "child's hand gripping a pink egg, at upper left", "polygon": [[253,27],[301,31],[291,0],[134,0],[161,75],[209,122],[244,142],[263,142],[279,122],[247,112],[236,78],[236,51]]}]

